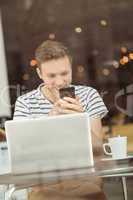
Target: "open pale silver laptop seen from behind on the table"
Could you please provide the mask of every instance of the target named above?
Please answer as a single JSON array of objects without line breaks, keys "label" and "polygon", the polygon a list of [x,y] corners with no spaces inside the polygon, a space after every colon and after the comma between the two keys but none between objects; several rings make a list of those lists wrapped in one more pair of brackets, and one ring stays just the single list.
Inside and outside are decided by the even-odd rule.
[{"label": "open pale silver laptop seen from behind on the table", "polygon": [[5,131],[14,174],[94,165],[87,113],[10,120]]}]

